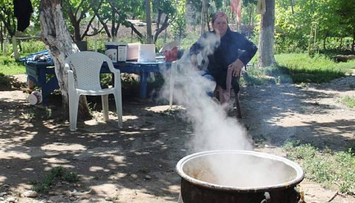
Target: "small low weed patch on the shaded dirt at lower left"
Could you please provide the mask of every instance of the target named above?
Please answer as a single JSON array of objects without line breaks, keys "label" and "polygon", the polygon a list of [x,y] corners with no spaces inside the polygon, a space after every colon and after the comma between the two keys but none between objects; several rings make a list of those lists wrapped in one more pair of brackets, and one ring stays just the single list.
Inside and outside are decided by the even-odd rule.
[{"label": "small low weed patch on the shaded dirt at lower left", "polygon": [[69,181],[74,182],[79,180],[79,176],[74,172],[65,171],[62,166],[52,168],[51,172],[45,176],[41,183],[33,186],[32,190],[37,192],[48,192],[50,186],[56,181]]}]

